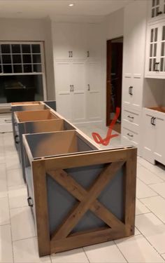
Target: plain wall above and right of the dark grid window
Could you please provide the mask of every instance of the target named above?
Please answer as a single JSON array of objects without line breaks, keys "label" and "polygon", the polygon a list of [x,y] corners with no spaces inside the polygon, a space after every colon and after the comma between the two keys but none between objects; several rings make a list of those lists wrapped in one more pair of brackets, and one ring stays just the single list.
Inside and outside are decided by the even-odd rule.
[{"label": "plain wall above and right of the dark grid window", "polygon": [[[37,19],[0,19],[0,41],[44,41],[45,69],[48,76],[47,95],[52,100],[54,93],[54,74],[52,74],[51,30],[48,30],[48,20]],[[53,87],[52,87],[53,86]],[[53,91],[52,91],[53,90]]]}]

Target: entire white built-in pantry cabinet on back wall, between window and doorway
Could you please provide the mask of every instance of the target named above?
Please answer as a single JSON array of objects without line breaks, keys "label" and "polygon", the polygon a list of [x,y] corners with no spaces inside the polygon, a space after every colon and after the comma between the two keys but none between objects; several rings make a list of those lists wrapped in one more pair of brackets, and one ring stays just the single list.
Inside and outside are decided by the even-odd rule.
[{"label": "entire white built-in pantry cabinet on back wall, between window and doorway", "polygon": [[74,123],[101,121],[99,25],[53,23],[57,112]]}]

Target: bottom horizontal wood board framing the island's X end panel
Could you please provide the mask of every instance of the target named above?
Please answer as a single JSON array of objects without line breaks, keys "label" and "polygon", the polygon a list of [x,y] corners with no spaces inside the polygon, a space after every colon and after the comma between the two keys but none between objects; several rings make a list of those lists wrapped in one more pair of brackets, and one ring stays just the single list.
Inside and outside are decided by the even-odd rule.
[{"label": "bottom horizontal wood board framing the island's X end panel", "polygon": [[124,237],[125,233],[121,231],[121,229],[93,229],[93,231],[80,232],[67,238],[50,241],[51,253],[62,252],[73,248],[82,248],[85,245],[94,245]]}]

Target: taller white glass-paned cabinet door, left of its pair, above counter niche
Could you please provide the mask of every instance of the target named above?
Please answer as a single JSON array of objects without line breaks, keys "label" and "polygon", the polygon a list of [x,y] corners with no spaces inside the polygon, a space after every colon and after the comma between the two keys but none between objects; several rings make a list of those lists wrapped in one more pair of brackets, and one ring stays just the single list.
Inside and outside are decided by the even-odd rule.
[{"label": "taller white glass-paned cabinet door, left of its pair, above counter niche", "polygon": [[[145,76],[159,75],[159,50],[160,50],[160,27],[159,24],[148,26]],[[157,64],[158,63],[158,64]]]}]

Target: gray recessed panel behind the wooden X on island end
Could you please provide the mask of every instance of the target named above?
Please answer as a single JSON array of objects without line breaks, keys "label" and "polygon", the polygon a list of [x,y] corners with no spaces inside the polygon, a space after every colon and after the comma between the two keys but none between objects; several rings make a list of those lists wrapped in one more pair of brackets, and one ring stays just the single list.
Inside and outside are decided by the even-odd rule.
[{"label": "gray recessed panel behind the wooden X on island end", "polygon": [[[101,173],[105,165],[86,166],[80,168],[66,169],[79,184],[85,189],[89,188],[96,177]],[[123,220],[123,170],[121,169],[114,177],[112,182],[103,190],[99,196],[99,201],[108,208],[120,220]],[[76,205],[76,201],[68,191],[61,187],[52,177],[47,176],[48,187],[48,211],[50,220],[50,234],[57,229],[62,220]],[[76,231],[85,231],[96,227],[105,227],[105,223],[96,217],[92,212],[87,211],[80,222],[73,229]]]}]

